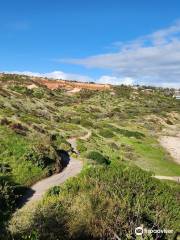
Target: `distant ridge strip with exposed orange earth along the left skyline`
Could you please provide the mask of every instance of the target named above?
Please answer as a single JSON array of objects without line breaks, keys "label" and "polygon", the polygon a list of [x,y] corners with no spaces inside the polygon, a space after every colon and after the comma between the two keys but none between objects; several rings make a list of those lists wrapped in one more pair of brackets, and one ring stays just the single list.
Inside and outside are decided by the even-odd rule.
[{"label": "distant ridge strip with exposed orange earth along the left skyline", "polygon": [[51,90],[62,88],[69,91],[72,91],[73,89],[76,89],[76,91],[81,89],[104,91],[111,88],[110,84],[97,84],[93,82],[79,82],[79,81],[62,80],[62,79],[56,80],[56,79],[49,79],[49,78],[43,78],[43,77],[0,73],[0,78],[5,76],[7,76],[8,78],[12,77],[12,82],[14,81],[14,78],[16,78],[17,76],[18,78],[21,78],[21,80],[23,79],[25,80],[23,84],[27,84],[29,81],[32,81],[33,84],[45,85],[47,88]]}]

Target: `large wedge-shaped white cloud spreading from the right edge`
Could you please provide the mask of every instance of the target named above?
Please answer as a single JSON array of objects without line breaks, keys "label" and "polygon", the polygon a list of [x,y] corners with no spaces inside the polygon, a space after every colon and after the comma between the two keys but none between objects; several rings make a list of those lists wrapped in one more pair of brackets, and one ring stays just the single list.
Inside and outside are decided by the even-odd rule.
[{"label": "large wedge-shaped white cloud spreading from the right edge", "polygon": [[[119,47],[115,53],[63,61],[111,70],[115,76],[110,77],[112,82],[127,78],[135,79],[139,84],[180,87],[180,22],[134,41],[117,42],[115,45]],[[110,81],[106,77],[100,79]]]}]

